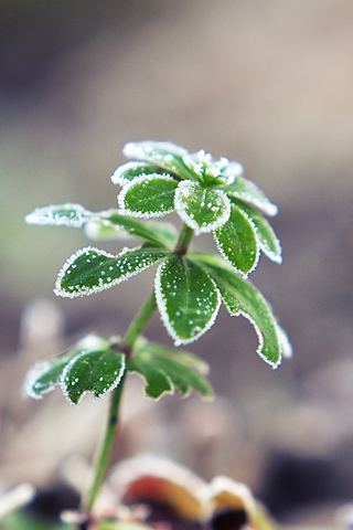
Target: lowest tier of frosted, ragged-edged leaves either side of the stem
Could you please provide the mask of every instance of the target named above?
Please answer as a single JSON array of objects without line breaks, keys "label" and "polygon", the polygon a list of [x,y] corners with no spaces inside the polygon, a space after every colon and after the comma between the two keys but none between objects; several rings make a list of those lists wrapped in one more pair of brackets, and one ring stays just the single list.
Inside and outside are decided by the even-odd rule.
[{"label": "lowest tier of frosted, ragged-edged leaves either side of the stem", "polygon": [[[122,349],[122,348],[121,348]],[[42,396],[61,385],[68,403],[78,405],[85,394],[104,398],[117,388],[126,372],[139,373],[146,394],[156,400],[178,389],[183,395],[192,390],[212,398],[205,379],[207,364],[188,352],[175,352],[140,340],[131,357],[119,351],[116,338],[90,335],[62,356],[38,362],[28,373],[24,391],[30,398]]]}]

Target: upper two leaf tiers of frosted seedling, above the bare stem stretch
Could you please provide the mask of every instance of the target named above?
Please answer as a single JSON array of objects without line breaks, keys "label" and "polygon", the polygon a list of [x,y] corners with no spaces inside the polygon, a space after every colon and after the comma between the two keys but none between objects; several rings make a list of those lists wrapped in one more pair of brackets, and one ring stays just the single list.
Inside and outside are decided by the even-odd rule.
[{"label": "upper two leaf tiers of frosted seedling, above the bare stem stretch", "polygon": [[[121,187],[118,211],[94,213],[67,203],[26,216],[32,224],[84,226],[92,239],[142,240],[117,255],[93,246],[77,251],[58,273],[55,294],[73,298],[97,293],[159,264],[156,301],[175,346],[210,329],[224,301],[231,315],[252,321],[258,353],[276,368],[290,346],[271,307],[246,277],[260,250],[281,262],[279,241],[265,218],[275,215],[277,206],[243,177],[238,162],[226,158],[214,160],[204,151],[189,153],[162,141],[129,142],[124,153],[133,160],[111,177]],[[184,222],[179,240],[173,225],[150,221],[173,211]],[[211,231],[218,256],[188,252],[193,233]]]}]

